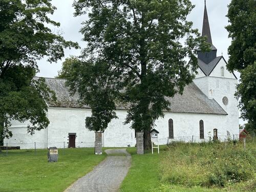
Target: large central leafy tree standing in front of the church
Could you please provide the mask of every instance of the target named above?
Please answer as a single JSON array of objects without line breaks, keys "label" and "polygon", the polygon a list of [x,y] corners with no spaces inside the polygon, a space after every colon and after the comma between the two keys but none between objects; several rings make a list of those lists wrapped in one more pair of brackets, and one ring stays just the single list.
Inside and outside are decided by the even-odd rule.
[{"label": "large central leafy tree standing in front of the church", "polygon": [[[155,120],[169,109],[166,97],[183,92],[193,79],[189,67],[197,68],[196,49],[209,47],[186,21],[194,6],[188,0],[78,0],[74,7],[75,15],[89,16],[80,30],[87,42],[81,56],[86,62],[81,66],[95,66],[93,70],[104,66],[100,76],[114,83],[113,91],[108,92],[110,105],[119,103],[113,102],[119,98],[129,106],[125,123],[144,132],[144,147],[148,148]],[[187,63],[186,57],[191,62]],[[80,93],[102,89],[95,86],[100,81],[82,84],[87,75],[79,71],[68,80]],[[105,98],[99,99],[103,103]]]}]

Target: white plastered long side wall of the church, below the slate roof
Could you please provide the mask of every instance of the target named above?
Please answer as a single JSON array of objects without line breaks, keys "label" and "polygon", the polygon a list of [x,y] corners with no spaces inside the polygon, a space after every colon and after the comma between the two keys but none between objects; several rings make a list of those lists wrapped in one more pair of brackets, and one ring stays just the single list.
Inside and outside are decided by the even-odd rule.
[{"label": "white plastered long side wall of the church, below the slate roof", "polygon": [[[127,112],[124,110],[116,111],[118,119],[113,119],[109,127],[103,133],[102,144],[105,147],[127,147],[127,145],[135,146],[136,139],[134,130],[130,129],[130,125],[124,125]],[[68,142],[69,133],[76,133],[76,147],[93,147],[95,141],[95,133],[88,131],[85,127],[85,118],[91,116],[90,110],[85,109],[67,109],[67,108],[50,108],[48,118],[50,124],[48,129],[36,131],[35,135],[30,136],[26,133],[25,128],[11,127],[13,137],[5,140],[5,143],[16,142],[13,145],[22,148],[33,148],[33,145],[25,146],[20,144],[19,138],[23,138],[23,143],[36,142],[37,148],[46,148],[50,146],[63,147],[63,142]],[[238,134],[233,129],[232,124],[226,124],[226,115],[216,114],[193,114],[193,113],[165,113],[164,118],[156,121],[155,129],[160,132],[159,144],[166,144],[168,141],[168,120],[172,118],[174,121],[174,140],[190,142],[192,136],[195,142],[204,141],[199,139],[199,121],[204,121],[205,140],[212,137],[213,129],[218,129],[220,139],[226,135],[226,131],[230,134]],[[208,134],[208,132],[210,132]],[[226,137],[225,137],[226,138]],[[170,141],[170,140],[169,140]],[[44,142],[45,144],[40,144]],[[66,146],[67,147],[67,146]]]}]

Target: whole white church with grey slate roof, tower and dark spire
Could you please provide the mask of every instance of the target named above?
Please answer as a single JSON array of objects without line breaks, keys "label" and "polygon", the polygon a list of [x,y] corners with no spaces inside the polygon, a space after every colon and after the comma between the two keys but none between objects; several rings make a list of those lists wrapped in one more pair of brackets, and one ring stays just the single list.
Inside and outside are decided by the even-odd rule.
[{"label": "whole white church with grey slate roof, tower and dark spire", "polygon": [[[217,49],[212,44],[207,10],[204,10],[203,36],[212,45],[210,52],[198,50],[198,74],[188,84],[182,95],[168,98],[170,111],[165,111],[164,118],[156,121],[159,132],[159,144],[182,140],[191,142],[208,141],[213,137],[213,130],[218,130],[218,137],[224,140],[239,135],[238,101],[234,98],[237,77],[226,69],[227,62],[223,56],[217,57]],[[47,129],[27,133],[27,123],[12,121],[9,130],[13,137],[5,139],[8,145],[20,148],[37,148],[50,146],[93,147],[95,133],[87,129],[86,118],[91,116],[89,106],[78,104],[78,94],[70,96],[65,87],[65,79],[46,78],[50,89],[55,91],[57,102],[47,103],[47,116],[50,124]],[[102,135],[104,147],[135,146],[135,131],[129,124],[123,124],[127,115],[125,106],[118,106],[118,119],[113,119]]]}]

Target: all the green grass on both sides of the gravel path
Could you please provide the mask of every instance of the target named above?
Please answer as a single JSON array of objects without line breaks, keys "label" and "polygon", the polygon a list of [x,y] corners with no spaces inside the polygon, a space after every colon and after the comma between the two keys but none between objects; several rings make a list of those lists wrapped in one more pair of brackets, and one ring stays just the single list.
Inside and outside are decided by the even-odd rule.
[{"label": "all the green grass on both sides of the gravel path", "polygon": [[[176,143],[160,146],[160,154],[155,151],[154,155],[151,151],[137,155],[136,147],[127,151],[132,154],[132,166],[120,192],[231,192],[256,188],[255,141],[247,143],[246,151],[241,143],[231,142],[225,149],[223,143]],[[1,192],[62,192],[106,157],[106,154],[94,155],[94,148],[60,149],[57,163],[47,162],[47,150],[37,150],[36,154],[33,150],[4,154],[5,151],[0,153]],[[249,178],[244,177],[240,183],[227,182],[224,187],[206,186],[210,174],[219,179],[216,174],[223,175],[229,170]]]}]

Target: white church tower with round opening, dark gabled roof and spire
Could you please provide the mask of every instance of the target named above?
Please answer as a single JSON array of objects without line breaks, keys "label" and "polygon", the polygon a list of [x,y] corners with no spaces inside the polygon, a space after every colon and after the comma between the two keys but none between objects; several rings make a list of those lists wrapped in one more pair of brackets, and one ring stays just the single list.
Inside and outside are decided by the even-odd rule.
[{"label": "white church tower with round opening, dark gabled roof and spire", "polygon": [[208,98],[215,99],[228,114],[223,116],[223,127],[216,127],[218,133],[237,135],[239,134],[238,101],[234,98],[237,77],[227,70],[224,57],[217,56],[217,48],[212,44],[206,2],[204,4],[202,36],[207,37],[211,51],[197,50],[199,68],[194,82]]}]

